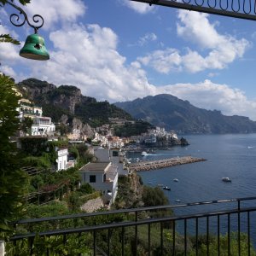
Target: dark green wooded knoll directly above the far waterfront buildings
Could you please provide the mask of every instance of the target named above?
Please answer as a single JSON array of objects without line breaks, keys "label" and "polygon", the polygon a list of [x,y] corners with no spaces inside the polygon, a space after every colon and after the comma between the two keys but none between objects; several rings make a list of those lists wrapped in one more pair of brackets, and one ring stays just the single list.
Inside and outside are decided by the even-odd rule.
[{"label": "dark green wooded knoll directly above the far waterfront buildings", "polygon": [[148,129],[152,127],[153,125],[150,125],[146,121],[137,120],[134,124],[127,122],[124,126],[114,127],[114,134],[119,137],[131,137],[133,135],[140,135],[147,132]]}]

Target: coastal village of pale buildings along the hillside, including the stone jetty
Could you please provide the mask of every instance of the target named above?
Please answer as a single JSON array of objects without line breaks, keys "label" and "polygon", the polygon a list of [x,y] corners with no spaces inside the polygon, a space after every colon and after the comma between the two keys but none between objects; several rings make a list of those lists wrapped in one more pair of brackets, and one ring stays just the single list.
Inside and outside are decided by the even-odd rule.
[{"label": "coastal village of pale buildings along the hillside, including the stone jetty", "polygon": [[[118,194],[119,176],[128,176],[132,172],[145,171],[150,169],[158,169],[166,166],[175,166],[179,164],[191,163],[200,159],[193,159],[190,156],[180,159],[157,160],[132,162],[126,157],[127,152],[136,152],[138,154],[150,154],[157,148],[168,149],[173,145],[188,145],[185,139],[179,140],[175,131],[167,132],[164,128],[155,127],[149,129],[148,132],[138,136],[116,137],[113,136],[113,127],[125,125],[126,122],[131,124],[132,120],[112,118],[109,124],[102,125],[93,129],[93,133],[84,134],[79,127],[73,129],[72,132],[61,136],[57,131],[56,125],[50,117],[44,116],[43,110],[39,106],[34,106],[31,101],[22,97],[20,92],[16,90],[16,94],[20,96],[19,112],[20,123],[23,128],[14,137],[18,148],[24,150],[24,145],[32,148],[30,142],[44,143],[60,143],[55,146],[55,165],[50,166],[51,172],[61,172],[69,168],[78,166],[78,160],[70,151],[70,145],[85,145],[91,161],[83,166],[79,165],[80,182],[79,187],[84,183],[96,191],[100,191],[102,199],[99,201],[88,201],[82,209],[91,212],[100,207],[111,207]],[[22,127],[22,125],[21,125]],[[24,141],[26,143],[24,143]],[[158,142],[161,143],[158,143]],[[90,143],[89,143],[90,142]],[[165,143],[163,143],[165,142]],[[38,145],[38,143],[36,143]],[[37,149],[38,150],[38,149]],[[46,150],[49,151],[49,148]],[[38,152],[38,155],[44,152]],[[23,167],[29,175],[36,175],[38,168],[29,164]],[[42,171],[42,170],[41,170]]]}]

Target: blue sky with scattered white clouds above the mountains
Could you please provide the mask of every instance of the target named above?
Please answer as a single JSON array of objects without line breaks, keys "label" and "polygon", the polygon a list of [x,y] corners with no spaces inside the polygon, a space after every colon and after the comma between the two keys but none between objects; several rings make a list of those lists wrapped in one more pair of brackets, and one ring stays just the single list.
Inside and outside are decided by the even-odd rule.
[{"label": "blue sky with scattered white clouds above the mountains", "polygon": [[13,26],[15,9],[0,7],[0,34],[21,43],[0,44],[0,71],[16,82],[75,85],[111,103],[166,93],[256,121],[255,21],[130,0],[32,0],[24,9],[44,17],[38,34],[50,60],[20,57],[33,29]]}]

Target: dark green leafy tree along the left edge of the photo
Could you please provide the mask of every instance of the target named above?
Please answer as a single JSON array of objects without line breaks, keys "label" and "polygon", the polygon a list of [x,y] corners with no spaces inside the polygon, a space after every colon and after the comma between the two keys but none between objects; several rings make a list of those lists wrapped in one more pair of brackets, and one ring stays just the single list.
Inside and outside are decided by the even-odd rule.
[{"label": "dark green leafy tree along the left edge of the photo", "polygon": [[26,174],[20,170],[17,148],[10,140],[20,123],[14,88],[14,81],[0,74],[0,236],[9,230],[9,220],[19,214],[26,187]]}]

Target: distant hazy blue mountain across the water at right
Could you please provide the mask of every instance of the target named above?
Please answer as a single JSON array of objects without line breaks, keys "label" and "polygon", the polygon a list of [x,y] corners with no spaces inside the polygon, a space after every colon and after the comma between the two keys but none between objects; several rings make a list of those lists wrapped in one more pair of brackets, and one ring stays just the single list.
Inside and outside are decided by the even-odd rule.
[{"label": "distant hazy blue mountain across the water at right", "polygon": [[115,105],[152,125],[165,127],[177,133],[251,133],[256,132],[256,122],[243,116],[225,116],[217,110],[196,108],[176,96],[160,94],[146,96],[132,102]]}]

